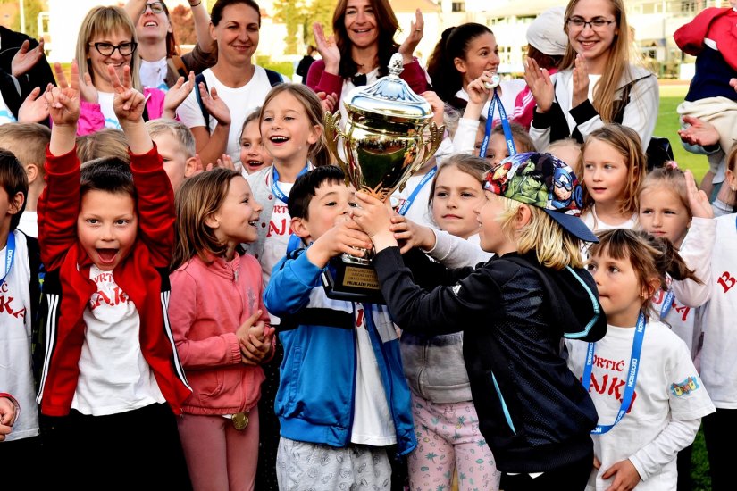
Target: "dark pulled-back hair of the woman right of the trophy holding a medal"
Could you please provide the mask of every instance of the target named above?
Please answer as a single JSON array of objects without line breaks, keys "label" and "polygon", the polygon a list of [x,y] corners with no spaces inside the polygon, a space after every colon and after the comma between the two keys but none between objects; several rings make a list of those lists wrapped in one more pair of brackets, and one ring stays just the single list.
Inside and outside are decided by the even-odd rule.
[{"label": "dark pulled-back hair of the woman right of the trophy holding a medal", "polygon": [[463,76],[456,69],[456,58],[465,60],[468,46],[483,34],[493,34],[491,29],[475,22],[467,22],[455,28],[445,29],[440,41],[430,55],[427,72],[432,87],[440,99],[448,101],[463,87]]}]

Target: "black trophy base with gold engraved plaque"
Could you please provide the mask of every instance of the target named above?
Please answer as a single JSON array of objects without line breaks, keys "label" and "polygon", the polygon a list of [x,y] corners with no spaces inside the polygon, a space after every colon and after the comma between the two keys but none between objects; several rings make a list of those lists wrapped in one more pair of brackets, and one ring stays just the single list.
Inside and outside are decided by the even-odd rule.
[{"label": "black trophy base with gold engraved plaque", "polygon": [[386,304],[371,264],[347,263],[339,257],[333,258],[322,273],[322,287],[325,295],[333,300]]}]

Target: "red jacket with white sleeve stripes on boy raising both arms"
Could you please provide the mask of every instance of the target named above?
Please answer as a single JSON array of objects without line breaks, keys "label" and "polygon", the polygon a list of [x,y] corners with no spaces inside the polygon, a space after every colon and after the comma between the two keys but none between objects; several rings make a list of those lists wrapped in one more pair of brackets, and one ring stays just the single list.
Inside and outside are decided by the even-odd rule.
[{"label": "red jacket with white sleeve stripes on boy raising both arms", "polygon": [[[46,265],[42,322],[46,357],[39,396],[41,412],[69,413],[80,376],[78,362],[85,337],[82,314],[96,284],[92,264],[77,240],[80,211],[80,161],[76,148],[54,156],[46,151],[46,188],[38,199],[38,241]],[[115,269],[115,281],[136,305],[141,352],[156,383],[176,414],[190,394],[166,317],[168,268],[174,243],[172,185],[153,148],[130,155],[138,194],[138,237],[130,255]]]}]

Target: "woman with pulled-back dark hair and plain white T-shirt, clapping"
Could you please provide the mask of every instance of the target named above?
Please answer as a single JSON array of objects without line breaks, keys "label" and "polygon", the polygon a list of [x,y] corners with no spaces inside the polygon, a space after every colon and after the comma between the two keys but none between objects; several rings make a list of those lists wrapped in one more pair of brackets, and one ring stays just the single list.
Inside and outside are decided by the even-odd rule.
[{"label": "woman with pulled-back dark hair and plain white T-shirt, clapping", "polygon": [[240,171],[243,121],[283,77],[253,63],[261,29],[261,12],[254,0],[217,0],[210,17],[218,60],[202,72],[203,81],[177,114],[192,130],[205,165],[229,154]]}]

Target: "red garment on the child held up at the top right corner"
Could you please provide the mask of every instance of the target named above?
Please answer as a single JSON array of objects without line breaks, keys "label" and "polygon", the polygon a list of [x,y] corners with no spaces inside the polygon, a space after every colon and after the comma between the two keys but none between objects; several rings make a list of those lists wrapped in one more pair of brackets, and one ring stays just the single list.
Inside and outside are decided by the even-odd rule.
[{"label": "red garment on the child held up at the top right corner", "polygon": [[697,56],[704,49],[704,38],[716,42],[719,53],[737,70],[737,12],[732,8],[710,7],[693,21],[674,32],[675,44],[686,54]]}]

